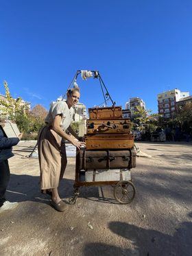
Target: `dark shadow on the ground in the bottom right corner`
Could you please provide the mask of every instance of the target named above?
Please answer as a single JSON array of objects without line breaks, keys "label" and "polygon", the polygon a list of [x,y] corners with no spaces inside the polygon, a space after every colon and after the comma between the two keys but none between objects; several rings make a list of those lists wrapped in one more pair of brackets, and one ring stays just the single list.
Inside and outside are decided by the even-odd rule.
[{"label": "dark shadow on the ground in the bottom right corner", "polygon": [[132,244],[132,249],[110,244],[89,243],[84,246],[84,255],[145,255],[145,256],[190,256],[192,251],[192,222],[182,222],[176,226],[173,235],[152,229],[143,229],[126,222],[110,222],[112,233]]}]

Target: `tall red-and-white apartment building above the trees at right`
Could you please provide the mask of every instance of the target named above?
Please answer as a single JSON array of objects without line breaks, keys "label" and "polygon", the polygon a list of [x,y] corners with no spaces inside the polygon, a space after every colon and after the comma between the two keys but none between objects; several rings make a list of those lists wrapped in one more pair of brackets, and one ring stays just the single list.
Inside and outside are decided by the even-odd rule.
[{"label": "tall red-and-white apartment building above the trees at right", "polygon": [[181,98],[189,97],[189,91],[173,89],[158,94],[158,113],[165,118],[171,118],[176,113],[176,102]]}]

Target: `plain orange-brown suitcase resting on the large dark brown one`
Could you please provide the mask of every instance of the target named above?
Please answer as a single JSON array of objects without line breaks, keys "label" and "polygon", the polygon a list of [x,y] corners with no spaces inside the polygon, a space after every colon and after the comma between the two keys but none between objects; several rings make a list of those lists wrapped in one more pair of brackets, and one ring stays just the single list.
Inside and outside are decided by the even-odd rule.
[{"label": "plain orange-brown suitcase resting on the large dark brown one", "polygon": [[132,148],[134,146],[134,135],[88,135],[85,142],[87,150]]}]

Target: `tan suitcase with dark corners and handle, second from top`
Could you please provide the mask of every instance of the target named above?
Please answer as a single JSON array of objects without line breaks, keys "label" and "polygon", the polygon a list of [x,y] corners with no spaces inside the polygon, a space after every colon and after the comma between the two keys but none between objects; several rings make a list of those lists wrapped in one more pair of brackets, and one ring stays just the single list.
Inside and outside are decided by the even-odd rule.
[{"label": "tan suitcase with dark corners and handle, second from top", "polygon": [[130,119],[87,119],[87,134],[130,133]]}]

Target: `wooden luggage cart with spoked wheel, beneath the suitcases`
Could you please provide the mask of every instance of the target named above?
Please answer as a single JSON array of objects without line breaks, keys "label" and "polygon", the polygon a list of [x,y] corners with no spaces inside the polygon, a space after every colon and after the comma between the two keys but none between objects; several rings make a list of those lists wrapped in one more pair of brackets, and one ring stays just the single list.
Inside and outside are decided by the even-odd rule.
[{"label": "wooden luggage cart with spoked wheel, beneath the suitcases", "polygon": [[[71,205],[75,204],[78,196],[80,196],[80,187],[89,187],[89,186],[102,186],[102,185],[110,185],[113,187],[113,195],[115,200],[122,205],[129,204],[134,199],[136,194],[136,188],[132,182],[131,178],[126,178],[123,180],[123,172],[119,172],[119,179],[117,181],[84,181],[84,174],[86,170],[80,170],[79,168],[79,158],[80,158],[80,150],[76,152],[76,162],[75,162],[75,183],[73,185],[74,188],[74,196],[69,199],[69,203]],[[112,170],[112,169],[111,169]],[[128,170],[130,172],[130,170]]]}]

